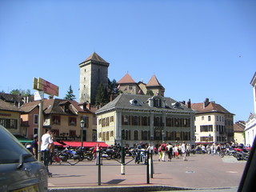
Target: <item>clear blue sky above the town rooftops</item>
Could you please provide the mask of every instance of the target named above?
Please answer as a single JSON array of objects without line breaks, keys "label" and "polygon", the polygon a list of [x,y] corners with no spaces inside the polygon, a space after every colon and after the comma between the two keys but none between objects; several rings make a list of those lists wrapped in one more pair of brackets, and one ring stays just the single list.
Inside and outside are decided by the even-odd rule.
[{"label": "clear blue sky above the town rooftops", "polygon": [[[254,112],[256,1],[0,2],[0,90],[32,89],[33,78],[71,85],[94,51],[110,62],[109,78],[135,82],[155,74],[166,97],[210,98],[246,121]],[[47,96],[46,96],[47,97]]]}]

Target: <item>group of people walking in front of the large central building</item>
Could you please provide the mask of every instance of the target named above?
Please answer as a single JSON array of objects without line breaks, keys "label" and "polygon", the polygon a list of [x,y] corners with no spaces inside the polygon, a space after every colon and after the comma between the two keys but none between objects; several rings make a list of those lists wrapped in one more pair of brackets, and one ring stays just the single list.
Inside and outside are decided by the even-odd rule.
[{"label": "group of people walking in front of the large central building", "polygon": [[166,154],[168,155],[168,162],[171,161],[172,158],[183,157],[184,161],[187,161],[187,156],[190,155],[190,144],[186,144],[186,142],[182,142],[182,144],[172,145],[170,142],[162,142],[158,148],[155,148],[156,153],[159,154],[158,162],[166,162]]}]

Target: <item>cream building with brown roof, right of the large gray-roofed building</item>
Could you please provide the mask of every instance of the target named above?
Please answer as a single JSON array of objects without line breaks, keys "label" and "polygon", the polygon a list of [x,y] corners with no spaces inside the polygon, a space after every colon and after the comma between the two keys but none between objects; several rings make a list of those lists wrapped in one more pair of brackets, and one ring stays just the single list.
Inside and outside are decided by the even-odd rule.
[{"label": "cream building with brown roof, right of the large gray-roofed building", "polygon": [[223,106],[210,102],[192,103],[196,111],[194,132],[196,144],[225,143],[234,141],[234,114]]}]

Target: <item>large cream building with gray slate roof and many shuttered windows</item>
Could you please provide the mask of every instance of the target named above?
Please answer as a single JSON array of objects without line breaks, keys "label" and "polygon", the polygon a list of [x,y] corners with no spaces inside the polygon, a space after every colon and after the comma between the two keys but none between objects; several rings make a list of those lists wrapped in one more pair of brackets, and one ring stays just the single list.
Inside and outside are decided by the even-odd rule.
[{"label": "large cream building with gray slate roof and many shuttered windows", "polygon": [[98,142],[130,146],[186,141],[194,145],[194,110],[160,95],[119,94],[96,111]]}]

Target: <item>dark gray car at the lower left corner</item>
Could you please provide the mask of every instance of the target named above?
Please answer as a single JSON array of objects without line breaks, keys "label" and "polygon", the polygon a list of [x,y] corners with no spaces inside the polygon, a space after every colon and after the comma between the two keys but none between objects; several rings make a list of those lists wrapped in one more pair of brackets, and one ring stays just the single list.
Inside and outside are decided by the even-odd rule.
[{"label": "dark gray car at the lower left corner", "polygon": [[0,191],[48,190],[46,167],[13,134],[0,126]]}]

